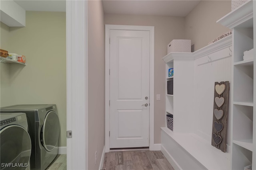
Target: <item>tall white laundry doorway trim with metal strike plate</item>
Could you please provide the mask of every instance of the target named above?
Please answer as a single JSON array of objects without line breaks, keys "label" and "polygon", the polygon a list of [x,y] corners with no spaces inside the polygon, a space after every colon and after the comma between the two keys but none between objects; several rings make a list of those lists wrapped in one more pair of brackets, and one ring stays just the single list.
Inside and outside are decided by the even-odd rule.
[{"label": "tall white laundry doorway trim with metal strike plate", "polygon": [[88,169],[87,1],[66,1],[67,169]]}]

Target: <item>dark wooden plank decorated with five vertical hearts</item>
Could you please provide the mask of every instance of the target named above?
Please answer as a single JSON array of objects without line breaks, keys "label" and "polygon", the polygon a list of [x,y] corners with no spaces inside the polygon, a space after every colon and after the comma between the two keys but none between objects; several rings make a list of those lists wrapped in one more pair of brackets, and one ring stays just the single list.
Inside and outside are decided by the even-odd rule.
[{"label": "dark wooden plank decorated with five vertical hearts", "polygon": [[212,146],[226,152],[229,82],[215,82],[212,119]]}]

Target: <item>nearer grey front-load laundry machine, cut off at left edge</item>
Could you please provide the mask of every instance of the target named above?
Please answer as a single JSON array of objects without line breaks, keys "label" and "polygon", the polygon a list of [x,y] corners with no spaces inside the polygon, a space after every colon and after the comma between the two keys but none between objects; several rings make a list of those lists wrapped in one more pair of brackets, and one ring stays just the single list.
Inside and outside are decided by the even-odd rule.
[{"label": "nearer grey front-load laundry machine, cut off at left edge", "polygon": [[0,113],[0,169],[28,170],[31,140],[26,113]]}]

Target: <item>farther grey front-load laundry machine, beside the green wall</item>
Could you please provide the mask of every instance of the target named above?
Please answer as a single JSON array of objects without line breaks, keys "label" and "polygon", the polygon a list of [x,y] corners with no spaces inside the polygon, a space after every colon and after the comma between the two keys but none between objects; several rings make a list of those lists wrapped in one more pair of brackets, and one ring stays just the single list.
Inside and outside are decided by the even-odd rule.
[{"label": "farther grey front-load laundry machine, beside the green wall", "polygon": [[0,112],[26,113],[32,143],[30,169],[45,170],[58,154],[60,122],[56,105],[14,105],[1,107]]}]

